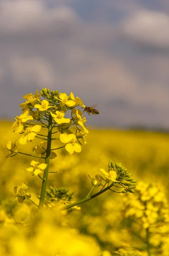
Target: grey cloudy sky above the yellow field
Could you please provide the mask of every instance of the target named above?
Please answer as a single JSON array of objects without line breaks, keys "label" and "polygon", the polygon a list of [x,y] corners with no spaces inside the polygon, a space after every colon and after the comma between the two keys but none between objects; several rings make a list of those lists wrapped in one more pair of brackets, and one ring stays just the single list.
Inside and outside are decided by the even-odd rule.
[{"label": "grey cloudy sky above the yellow field", "polygon": [[169,0],[0,0],[0,117],[48,87],[90,125],[169,128]]}]

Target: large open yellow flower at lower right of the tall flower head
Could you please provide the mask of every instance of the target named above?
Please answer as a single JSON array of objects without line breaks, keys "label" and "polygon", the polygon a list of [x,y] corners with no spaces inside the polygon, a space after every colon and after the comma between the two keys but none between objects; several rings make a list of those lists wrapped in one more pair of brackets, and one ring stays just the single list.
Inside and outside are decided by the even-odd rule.
[{"label": "large open yellow flower at lower right of the tall flower head", "polygon": [[65,149],[69,152],[69,154],[73,154],[73,152],[81,152],[82,148],[79,144],[76,143],[75,134],[60,134],[60,141],[65,143]]}]

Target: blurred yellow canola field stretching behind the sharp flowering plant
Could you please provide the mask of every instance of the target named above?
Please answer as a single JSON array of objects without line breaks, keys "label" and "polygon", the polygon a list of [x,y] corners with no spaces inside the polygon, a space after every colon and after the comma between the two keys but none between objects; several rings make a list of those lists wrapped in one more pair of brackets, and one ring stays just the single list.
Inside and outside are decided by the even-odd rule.
[{"label": "blurred yellow canola field stretching behind the sharp flowering plant", "polygon": [[[121,163],[137,180],[135,194],[107,191],[68,214],[56,207],[42,219],[34,218],[30,201],[14,204],[14,186],[28,183],[31,199],[38,204],[42,180],[25,168],[34,157],[17,154],[4,160],[6,143],[18,141],[11,122],[0,122],[0,255],[4,256],[148,256],[169,255],[168,187],[169,135],[146,131],[89,130],[81,153],[65,148],[51,160],[49,186],[74,191],[74,201],[92,188],[88,175],[108,171],[110,159]],[[57,137],[57,136],[56,136]],[[18,150],[28,154],[41,140]],[[62,146],[54,140],[52,148]],[[94,188],[93,193],[99,192]],[[36,221],[35,221],[36,220]],[[147,240],[149,232],[149,241]],[[149,252],[151,254],[149,254]]]}]

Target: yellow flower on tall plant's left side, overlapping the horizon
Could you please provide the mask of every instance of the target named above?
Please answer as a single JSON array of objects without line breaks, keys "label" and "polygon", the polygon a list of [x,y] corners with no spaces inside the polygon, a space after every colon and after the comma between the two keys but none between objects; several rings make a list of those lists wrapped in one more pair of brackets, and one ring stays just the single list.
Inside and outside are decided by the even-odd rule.
[{"label": "yellow flower on tall plant's left side, overlapping the horizon", "polygon": [[15,133],[19,133],[23,130],[23,123],[27,122],[28,120],[33,120],[33,116],[28,116],[29,111],[23,112],[20,116],[15,117],[15,122],[12,125],[13,131]]}]

